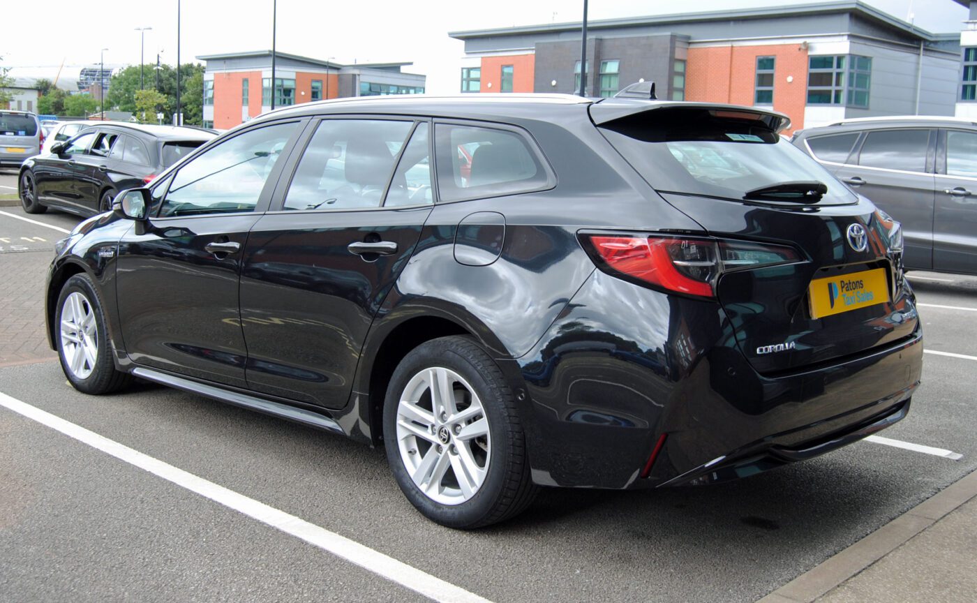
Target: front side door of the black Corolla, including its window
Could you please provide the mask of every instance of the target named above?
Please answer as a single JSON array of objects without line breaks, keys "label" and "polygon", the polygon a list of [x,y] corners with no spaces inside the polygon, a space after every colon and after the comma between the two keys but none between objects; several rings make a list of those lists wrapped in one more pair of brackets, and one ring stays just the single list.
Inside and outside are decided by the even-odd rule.
[{"label": "front side door of the black Corolla, including its window", "polygon": [[245,130],[153,188],[149,226],[119,244],[119,320],[133,362],[244,387],[237,295],[248,232],[268,207],[298,121]]}]

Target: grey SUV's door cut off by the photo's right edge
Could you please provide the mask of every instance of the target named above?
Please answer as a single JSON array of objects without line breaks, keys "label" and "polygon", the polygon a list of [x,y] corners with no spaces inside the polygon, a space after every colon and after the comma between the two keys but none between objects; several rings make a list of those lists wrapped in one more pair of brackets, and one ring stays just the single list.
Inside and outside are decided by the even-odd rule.
[{"label": "grey SUV's door cut off by the photo's right edge", "polygon": [[977,132],[941,130],[933,269],[977,274]]}]

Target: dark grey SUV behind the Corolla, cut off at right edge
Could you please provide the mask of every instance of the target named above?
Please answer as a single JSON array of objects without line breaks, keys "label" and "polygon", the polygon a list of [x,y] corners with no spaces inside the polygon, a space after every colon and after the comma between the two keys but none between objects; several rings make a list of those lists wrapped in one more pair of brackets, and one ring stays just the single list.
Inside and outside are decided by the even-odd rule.
[{"label": "dark grey SUV behind the Corolla, cut off at right edge", "polygon": [[977,123],[848,119],[792,142],[902,223],[907,269],[977,275]]}]

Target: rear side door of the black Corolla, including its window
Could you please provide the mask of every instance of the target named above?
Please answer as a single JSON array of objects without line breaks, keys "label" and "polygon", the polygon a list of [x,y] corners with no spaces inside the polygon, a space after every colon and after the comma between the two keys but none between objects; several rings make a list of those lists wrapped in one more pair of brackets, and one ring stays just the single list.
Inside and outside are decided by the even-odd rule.
[{"label": "rear side door of the black Corolla, including its window", "polygon": [[366,332],[431,212],[430,146],[426,121],[339,118],[293,153],[242,259],[250,388],[346,405]]}]

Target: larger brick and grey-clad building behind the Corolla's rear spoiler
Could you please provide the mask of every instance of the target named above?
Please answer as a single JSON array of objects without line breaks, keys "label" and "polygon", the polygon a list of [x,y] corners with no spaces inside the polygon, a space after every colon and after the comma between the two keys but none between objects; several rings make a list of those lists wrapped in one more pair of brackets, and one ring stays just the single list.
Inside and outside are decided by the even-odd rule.
[{"label": "larger brick and grey-clad building behind the Corolla's rear spoiler", "polygon": [[[449,35],[465,43],[461,92],[579,88],[579,22]],[[977,49],[973,59],[977,84]],[[587,96],[652,80],[659,99],[783,111],[789,131],[953,115],[962,90],[959,32],[930,33],[855,0],[588,22],[587,64]]]}]

